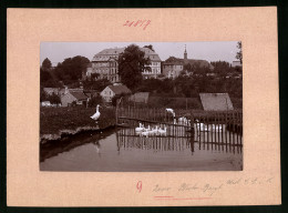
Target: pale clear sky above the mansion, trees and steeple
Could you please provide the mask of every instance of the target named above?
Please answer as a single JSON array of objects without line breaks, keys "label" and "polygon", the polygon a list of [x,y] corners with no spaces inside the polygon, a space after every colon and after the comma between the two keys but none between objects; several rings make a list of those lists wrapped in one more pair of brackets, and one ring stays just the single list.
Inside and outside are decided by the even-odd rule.
[{"label": "pale clear sky above the mansion, trees and steeple", "polygon": [[130,44],[138,47],[152,44],[162,61],[169,57],[184,58],[186,50],[188,59],[202,59],[207,61],[235,61],[237,41],[209,41],[209,42],[41,42],[40,63],[48,58],[53,65],[63,62],[66,58],[76,55],[92,60],[94,54],[107,48],[124,48]]}]

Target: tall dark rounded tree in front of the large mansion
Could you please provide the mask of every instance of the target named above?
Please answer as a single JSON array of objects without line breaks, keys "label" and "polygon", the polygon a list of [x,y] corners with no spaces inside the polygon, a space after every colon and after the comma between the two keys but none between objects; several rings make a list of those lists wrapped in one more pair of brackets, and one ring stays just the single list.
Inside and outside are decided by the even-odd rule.
[{"label": "tall dark rounded tree in front of the large mansion", "polygon": [[145,53],[141,51],[138,45],[131,44],[125,48],[124,52],[119,57],[119,75],[122,83],[130,89],[136,88],[142,82],[142,72],[150,70],[147,67],[151,63]]}]

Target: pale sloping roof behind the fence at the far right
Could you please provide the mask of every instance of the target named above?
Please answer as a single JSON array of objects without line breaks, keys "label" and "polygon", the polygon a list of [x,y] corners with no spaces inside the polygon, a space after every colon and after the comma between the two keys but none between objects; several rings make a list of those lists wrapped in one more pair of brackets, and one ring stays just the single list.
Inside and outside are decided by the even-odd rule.
[{"label": "pale sloping roof behind the fence at the far right", "polygon": [[199,93],[203,109],[206,111],[233,110],[228,93]]}]

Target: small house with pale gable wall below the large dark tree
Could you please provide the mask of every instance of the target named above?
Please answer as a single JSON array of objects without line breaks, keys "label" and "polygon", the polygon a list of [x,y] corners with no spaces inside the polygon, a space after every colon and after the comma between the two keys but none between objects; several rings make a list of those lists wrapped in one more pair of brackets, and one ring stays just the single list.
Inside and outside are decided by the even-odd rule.
[{"label": "small house with pale gable wall below the large dark tree", "polygon": [[126,85],[115,84],[115,85],[107,85],[100,95],[106,102],[111,102],[112,98],[116,94],[130,94],[131,90]]}]

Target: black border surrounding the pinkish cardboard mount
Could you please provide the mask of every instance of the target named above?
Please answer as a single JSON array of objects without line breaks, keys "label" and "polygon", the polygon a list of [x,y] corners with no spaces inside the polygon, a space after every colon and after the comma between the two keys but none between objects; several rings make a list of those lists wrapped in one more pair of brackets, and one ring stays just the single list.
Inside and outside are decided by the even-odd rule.
[{"label": "black border surrounding the pinkish cardboard mount", "polygon": [[[3,72],[3,70],[7,70],[7,8],[218,8],[218,7],[259,7],[259,6],[277,6],[278,8],[278,44],[279,44],[279,89],[280,89],[280,136],[281,141],[284,139],[287,139],[287,113],[285,112],[285,109],[287,109],[287,95],[285,95],[285,91],[287,91],[287,84],[285,84],[285,78],[287,78],[287,72],[285,70],[288,70],[288,65],[286,63],[285,55],[287,55],[287,48],[288,42],[286,38],[288,38],[287,33],[287,22],[285,12],[287,11],[287,2],[285,0],[278,1],[278,4],[276,1],[194,1],[194,2],[178,2],[178,1],[165,1],[165,2],[135,2],[135,1],[121,1],[121,2],[105,2],[103,0],[97,2],[91,2],[91,1],[37,1],[37,0],[30,0],[30,1],[9,1],[3,2],[1,1],[1,26],[4,26],[1,30],[1,51],[2,54],[0,55],[0,65],[2,70],[2,78],[1,79],[1,98],[4,101],[1,101],[0,108],[1,110],[1,142],[3,143],[2,149],[0,149],[0,159],[1,159],[1,191],[0,191],[0,210],[4,210],[6,212],[39,212],[39,211],[52,211],[52,212],[107,212],[107,211],[115,211],[116,212],[178,212],[178,211],[196,211],[196,212],[246,212],[247,210],[251,212],[285,212],[287,211],[287,191],[285,190],[287,187],[286,179],[287,178],[287,159],[285,159],[285,155],[287,153],[287,144],[281,143],[281,189],[282,189],[282,205],[278,206],[206,206],[206,207],[10,207],[7,206],[7,197],[6,197],[6,171],[7,171],[7,72]],[[285,4],[286,3],[286,4]]]}]

